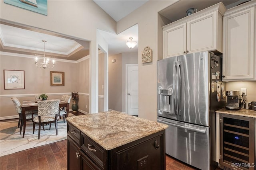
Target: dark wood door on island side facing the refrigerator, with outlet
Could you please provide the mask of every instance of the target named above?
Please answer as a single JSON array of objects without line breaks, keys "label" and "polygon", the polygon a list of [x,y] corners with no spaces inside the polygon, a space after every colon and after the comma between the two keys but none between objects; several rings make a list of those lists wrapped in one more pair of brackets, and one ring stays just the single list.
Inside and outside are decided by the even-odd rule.
[{"label": "dark wood door on island side facing the refrigerator, with outlet", "polygon": [[[158,136],[121,149],[111,157],[112,169],[116,170],[163,170],[165,169],[164,137]],[[115,158],[115,159],[113,159]]]}]

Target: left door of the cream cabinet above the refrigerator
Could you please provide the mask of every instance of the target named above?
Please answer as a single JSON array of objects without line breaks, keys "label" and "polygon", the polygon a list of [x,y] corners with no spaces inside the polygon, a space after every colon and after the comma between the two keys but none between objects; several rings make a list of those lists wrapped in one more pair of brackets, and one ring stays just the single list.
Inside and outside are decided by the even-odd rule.
[{"label": "left door of the cream cabinet above the refrigerator", "polygon": [[186,23],[164,30],[164,58],[186,53]]}]

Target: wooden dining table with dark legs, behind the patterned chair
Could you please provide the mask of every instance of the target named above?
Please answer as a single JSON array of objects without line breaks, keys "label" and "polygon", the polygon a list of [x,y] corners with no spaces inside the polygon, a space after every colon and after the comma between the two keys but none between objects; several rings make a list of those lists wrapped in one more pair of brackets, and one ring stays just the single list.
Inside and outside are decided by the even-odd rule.
[{"label": "wooden dining table with dark legs, behind the patterned chair", "polygon": [[[66,117],[68,117],[68,110],[69,110],[69,103],[60,100],[59,107],[67,107],[67,114]],[[37,110],[37,101],[36,100],[28,100],[28,101],[23,101],[21,105],[22,109],[22,121],[23,121],[23,135],[22,138],[24,138],[25,135],[25,130],[26,130],[26,111],[29,110]]]}]

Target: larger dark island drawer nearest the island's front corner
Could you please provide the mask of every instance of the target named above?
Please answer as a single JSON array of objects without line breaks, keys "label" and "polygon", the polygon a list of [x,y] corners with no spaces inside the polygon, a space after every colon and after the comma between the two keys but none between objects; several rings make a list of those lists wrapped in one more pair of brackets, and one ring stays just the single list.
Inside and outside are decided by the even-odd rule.
[{"label": "larger dark island drawer nearest the island's front corner", "polygon": [[104,161],[106,158],[106,150],[83,133],[81,138],[81,149],[88,155],[90,159],[92,159],[93,162],[104,169],[103,162],[106,162]]}]

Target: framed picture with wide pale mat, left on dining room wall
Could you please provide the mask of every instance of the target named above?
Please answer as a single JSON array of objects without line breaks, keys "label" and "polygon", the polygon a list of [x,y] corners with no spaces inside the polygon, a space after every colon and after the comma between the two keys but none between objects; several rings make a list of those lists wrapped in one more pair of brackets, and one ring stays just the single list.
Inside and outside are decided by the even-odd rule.
[{"label": "framed picture with wide pale mat, left on dining room wall", "polygon": [[4,89],[25,89],[23,70],[4,70]]}]

